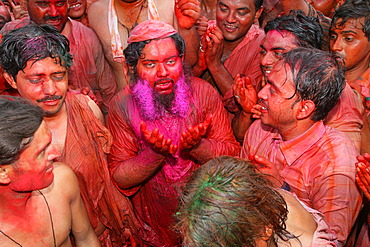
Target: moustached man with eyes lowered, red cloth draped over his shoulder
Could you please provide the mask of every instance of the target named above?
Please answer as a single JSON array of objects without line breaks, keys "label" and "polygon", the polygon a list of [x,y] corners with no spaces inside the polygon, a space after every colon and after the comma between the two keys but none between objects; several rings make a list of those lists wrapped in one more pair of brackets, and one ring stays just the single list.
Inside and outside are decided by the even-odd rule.
[{"label": "moustached man with eyes lowered, red cloth draped over his shoulder", "polygon": [[23,98],[44,110],[52,144],[61,153],[57,161],[76,173],[100,241],[106,244],[114,239],[122,246],[126,241],[122,222],[131,224],[123,213],[127,216],[130,209],[126,207],[128,199],[114,188],[109,176],[106,154],[111,136],[94,101],[67,92],[67,71],[72,63],[68,51],[67,38],[50,25],[30,24],[12,30],[4,35],[0,45],[4,78]]}]

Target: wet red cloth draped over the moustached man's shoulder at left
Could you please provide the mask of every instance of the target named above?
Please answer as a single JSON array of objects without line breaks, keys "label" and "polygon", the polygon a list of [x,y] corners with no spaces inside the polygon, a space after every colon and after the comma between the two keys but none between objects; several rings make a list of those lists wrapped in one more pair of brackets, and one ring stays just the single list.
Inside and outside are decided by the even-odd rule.
[{"label": "wet red cloth draped over the moustached man's shoulder at left", "polygon": [[76,173],[90,222],[95,228],[100,221],[110,230],[99,239],[103,246],[123,246],[123,222],[135,232],[130,201],[114,187],[108,171],[106,152],[111,135],[87,105],[87,96],[67,93],[67,136],[62,156],[58,161],[70,166]]}]

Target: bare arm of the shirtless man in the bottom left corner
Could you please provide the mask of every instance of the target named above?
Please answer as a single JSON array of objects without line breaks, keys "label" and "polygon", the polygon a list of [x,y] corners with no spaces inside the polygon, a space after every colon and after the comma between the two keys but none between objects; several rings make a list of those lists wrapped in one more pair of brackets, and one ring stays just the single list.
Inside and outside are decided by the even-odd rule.
[{"label": "bare arm of the shirtless man in the bottom left corner", "polygon": [[72,169],[64,166],[63,171],[64,176],[64,189],[63,192],[66,193],[70,199],[71,206],[71,222],[72,229],[71,232],[74,236],[75,243],[77,247],[98,247],[101,246],[100,242],[95,234],[94,229],[90,224],[89,217],[85,209],[85,205],[82,202],[80,195],[80,187],[78,185],[78,180]]}]

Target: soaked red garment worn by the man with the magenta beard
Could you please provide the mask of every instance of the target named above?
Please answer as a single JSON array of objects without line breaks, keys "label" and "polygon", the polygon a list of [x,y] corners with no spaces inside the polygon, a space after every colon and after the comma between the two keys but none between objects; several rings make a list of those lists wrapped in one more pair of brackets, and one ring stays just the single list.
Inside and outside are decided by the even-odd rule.
[{"label": "soaked red garment worn by the man with the magenta beard", "polygon": [[[154,246],[177,246],[179,240],[172,231],[173,215],[178,205],[178,189],[201,164],[220,155],[237,155],[240,146],[236,142],[220,95],[199,78],[191,78],[192,94],[186,118],[165,115],[161,119],[145,121],[147,128],[158,128],[172,144],[179,144],[181,132],[188,126],[204,122],[212,114],[212,122],[201,143],[190,152],[177,151],[167,156],[161,169],[147,182],[132,189],[122,190],[130,196],[135,213],[141,223],[142,239]],[[140,132],[140,107],[126,87],[114,98],[108,114],[107,126],[113,136],[109,155],[111,174],[133,158],[135,162],[149,162],[152,152]]]}]

